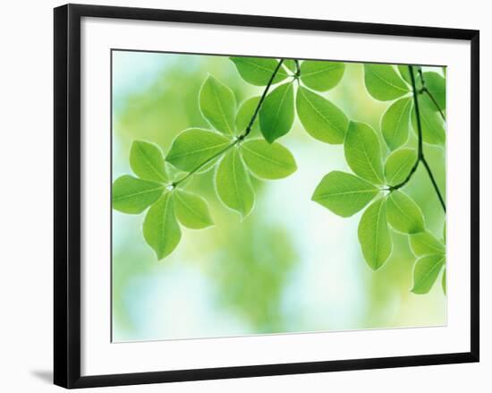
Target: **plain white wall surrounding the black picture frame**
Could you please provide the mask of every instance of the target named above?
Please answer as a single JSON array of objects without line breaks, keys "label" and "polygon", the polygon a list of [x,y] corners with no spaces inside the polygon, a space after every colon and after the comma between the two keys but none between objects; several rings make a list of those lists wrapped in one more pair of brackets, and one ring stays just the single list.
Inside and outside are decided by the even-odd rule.
[{"label": "plain white wall surrounding the black picture frame", "polygon": [[[81,3],[86,3],[81,1]],[[491,231],[487,203],[492,146],[486,108],[492,101],[488,76],[492,25],[488,2],[469,0],[347,0],[295,2],[248,0],[110,1],[91,4],[148,6],[195,11],[250,13],[342,21],[372,21],[481,30],[481,315],[482,361],[362,372],[219,380],[181,384],[113,388],[101,391],[490,391],[492,340],[487,287]],[[52,391],[52,8],[53,0],[5,2],[0,13],[0,386],[4,391]],[[100,389],[98,389],[100,390]]]}]

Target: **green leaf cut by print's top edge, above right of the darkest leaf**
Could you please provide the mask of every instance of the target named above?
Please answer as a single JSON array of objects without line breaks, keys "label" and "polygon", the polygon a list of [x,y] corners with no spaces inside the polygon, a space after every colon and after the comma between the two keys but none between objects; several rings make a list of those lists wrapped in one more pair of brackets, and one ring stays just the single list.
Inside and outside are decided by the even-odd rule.
[{"label": "green leaf cut by print's top edge, above right of the darkest leaf", "polygon": [[345,64],[341,62],[305,60],[301,64],[301,81],[317,91],[333,89],[344,76]]}]

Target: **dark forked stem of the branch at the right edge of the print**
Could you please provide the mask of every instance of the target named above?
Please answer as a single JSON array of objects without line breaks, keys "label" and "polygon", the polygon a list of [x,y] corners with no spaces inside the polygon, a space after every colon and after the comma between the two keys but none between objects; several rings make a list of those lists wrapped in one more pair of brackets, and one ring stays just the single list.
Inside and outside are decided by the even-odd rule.
[{"label": "dark forked stem of the branch at the right edge of the print", "polygon": [[[410,173],[407,175],[407,177],[403,180],[402,183],[396,184],[392,187],[389,188],[390,192],[393,192],[394,190],[398,190],[399,188],[402,188],[403,185],[407,184],[415,171],[417,170],[417,167],[419,167],[420,162],[423,164],[423,166],[426,168],[428,177],[430,178],[430,181],[432,183],[432,186],[434,187],[434,190],[437,193],[437,198],[439,199],[439,202],[441,203],[441,206],[443,207],[443,210],[445,211],[445,201],[443,198],[443,195],[439,191],[439,187],[437,186],[436,178],[432,174],[432,170],[430,169],[427,159],[424,157],[424,149],[423,149],[423,138],[422,138],[422,124],[420,122],[420,107],[419,107],[419,98],[418,98],[418,92],[417,88],[415,86],[415,75],[413,74],[413,67],[411,65],[408,66],[409,72],[410,72],[410,79],[411,79],[411,89],[413,91],[413,105],[415,107],[415,117],[417,120],[417,136],[418,136],[418,147],[417,147],[417,159],[415,161],[415,164],[413,164],[413,167],[411,167]],[[427,90],[425,87],[425,82],[423,80],[423,74],[421,70],[419,70],[420,73],[420,79],[422,81],[423,89]]]}]

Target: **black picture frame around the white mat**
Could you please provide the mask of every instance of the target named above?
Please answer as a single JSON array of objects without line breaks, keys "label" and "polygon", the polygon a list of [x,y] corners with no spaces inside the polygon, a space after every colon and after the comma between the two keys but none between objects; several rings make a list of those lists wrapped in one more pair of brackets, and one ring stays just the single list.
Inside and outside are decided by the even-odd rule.
[{"label": "black picture frame around the white mat", "polygon": [[[81,18],[174,21],[269,29],[318,30],[471,42],[470,352],[81,376]],[[186,380],[479,362],[479,30],[199,13],[99,5],[55,8],[55,312],[54,381],[89,388]]]}]

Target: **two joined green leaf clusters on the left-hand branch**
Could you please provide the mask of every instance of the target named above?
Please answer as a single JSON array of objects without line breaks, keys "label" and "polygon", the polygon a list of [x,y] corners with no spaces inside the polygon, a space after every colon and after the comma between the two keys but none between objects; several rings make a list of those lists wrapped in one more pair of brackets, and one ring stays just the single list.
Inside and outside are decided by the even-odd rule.
[{"label": "two joined green leaf clusters on the left-hand branch", "polygon": [[[182,131],[166,156],[157,145],[134,141],[130,164],[136,176],[123,175],[113,184],[114,209],[127,214],[147,209],[143,235],[157,259],[174,251],[181,240],[180,225],[191,229],[213,225],[207,201],[184,190],[191,175],[215,168],[219,200],[246,218],[255,201],[250,175],[275,180],[297,169],[293,154],[280,143],[244,140],[237,125],[244,122],[246,109],[238,109],[233,91],[213,76],[199,90],[199,109],[210,129]],[[166,170],[168,166],[174,170]]]}]

